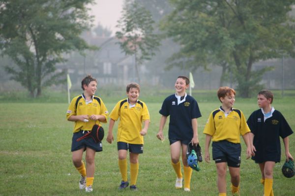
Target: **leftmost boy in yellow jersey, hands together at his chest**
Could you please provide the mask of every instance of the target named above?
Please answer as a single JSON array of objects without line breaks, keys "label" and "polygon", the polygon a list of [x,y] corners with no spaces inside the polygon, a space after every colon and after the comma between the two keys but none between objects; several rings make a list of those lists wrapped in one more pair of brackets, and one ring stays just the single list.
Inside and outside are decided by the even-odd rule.
[{"label": "leftmost boy in yellow jersey, hands together at his chest", "polygon": [[[88,75],[82,80],[81,85],[83,94],[73,98],[66,112],[66,118],[75,122],[71,151],[73,164],[81,174],[79,188],[92,192],[95,152],[102,151],[102,143],[96,143],[91,137],[80,141],[77,139],[91,131],[94,124],[106,123],[108,110],[101,98],[94,96],[96,79]],[[86,168],[82,161],[84,151],[86,151]]]}]

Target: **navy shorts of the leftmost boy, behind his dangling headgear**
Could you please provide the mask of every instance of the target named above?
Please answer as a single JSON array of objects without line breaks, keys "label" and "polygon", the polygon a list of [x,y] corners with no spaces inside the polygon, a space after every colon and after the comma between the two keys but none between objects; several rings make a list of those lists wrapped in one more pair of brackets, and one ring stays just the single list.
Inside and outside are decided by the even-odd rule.
[{"label": "navy shorts of the leftmost boy, behind his dangling headgear", "polygon": [[76,151],[76,150],[80,150],[81,148],[84,148],[84,151],[86,150],[86,147],[89,147],[93,150],[95,150],[96,152],[100,152],[102,151],[102,143],[100,142],[95,142],[91,137],[87,137],[84,138],[83,140],[77,141],[77,139],[81,138],[82,136],[84,136],[85,134],[87,134],[88,131],[79,131],[77,133],[73,134],[73,138],[72,138],[72,148],[71,151]]}]

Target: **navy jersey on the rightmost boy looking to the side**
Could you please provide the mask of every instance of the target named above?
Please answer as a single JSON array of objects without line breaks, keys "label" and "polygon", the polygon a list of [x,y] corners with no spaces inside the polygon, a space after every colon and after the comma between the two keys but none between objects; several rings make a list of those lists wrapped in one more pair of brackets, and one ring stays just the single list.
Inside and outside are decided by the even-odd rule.
[{"label": "navy jersey on the rightmost boy looking to the side", "polygon": [[281,161],[282,139],[293,134],[291,127],[283,114],[274,110],[272,116],[264,121],[264,114],[261,109],[254,111],[247,120],[247,124],[254,134],[253,144],[256,148],[255,156],[252,159],[256,163],[266,161]]}]

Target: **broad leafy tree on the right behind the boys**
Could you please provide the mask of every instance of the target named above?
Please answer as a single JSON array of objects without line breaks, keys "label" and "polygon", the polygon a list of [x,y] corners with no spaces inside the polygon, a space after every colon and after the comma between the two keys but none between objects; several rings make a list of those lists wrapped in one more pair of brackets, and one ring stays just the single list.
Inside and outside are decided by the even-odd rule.
[{"label": "broad leafy tree on the right behind the boys", "polygon": [[[294,0],[171,0],[174,11],[162,29],[181,45],[172,66],[197,69],[208,64],[231,67],[242,97],[259,86],[266,67],[259,60],[295,56]],[[225,72],[225,70],[223,70]]]}]

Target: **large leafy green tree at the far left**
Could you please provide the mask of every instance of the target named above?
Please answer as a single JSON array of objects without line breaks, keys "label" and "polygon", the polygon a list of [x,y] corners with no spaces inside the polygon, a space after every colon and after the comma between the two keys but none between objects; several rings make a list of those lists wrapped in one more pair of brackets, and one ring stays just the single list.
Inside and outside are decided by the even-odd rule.
[{"label": "large leafy green tree at the far left", "polygon": [[41,95],[42,86],[59,84],[61,56],[91,48],[79,37],[89,27],[86,4],[93,0],[1,0],[0,49],[16,66],[6,66],[12,79]]}]

